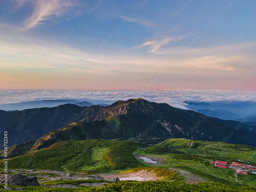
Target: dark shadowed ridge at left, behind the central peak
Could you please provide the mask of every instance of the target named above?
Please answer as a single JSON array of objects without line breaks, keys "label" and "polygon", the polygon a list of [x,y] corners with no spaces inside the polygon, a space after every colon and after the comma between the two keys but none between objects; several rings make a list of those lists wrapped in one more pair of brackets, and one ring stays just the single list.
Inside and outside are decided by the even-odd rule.
[{"label": "dark shadowed ridge at left, behind the central peak", "polygon": [[[52,130],[80,121],[102,108],[103,106],[99,105],[80,107],[75,104],[65,104],[52,108],[25,109],[14,112],[0,110],[0,134],[7,131],[12,135],[8,138],[9,146],[37,140]],[[0,140],[0,149],[3,149],[3,146],[3,140]]]}]

